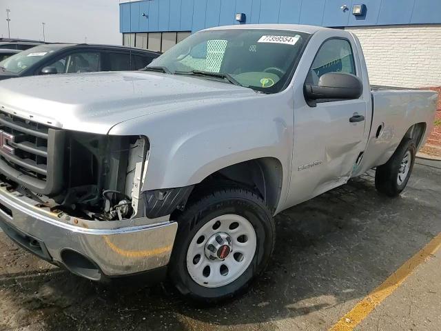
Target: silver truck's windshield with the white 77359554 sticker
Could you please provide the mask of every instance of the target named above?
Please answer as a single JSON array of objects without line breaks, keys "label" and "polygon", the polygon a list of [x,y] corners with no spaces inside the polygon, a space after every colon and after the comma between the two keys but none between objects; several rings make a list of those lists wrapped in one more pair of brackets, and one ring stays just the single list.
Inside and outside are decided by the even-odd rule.
[{"label": "silver truck's windshield with the white 77359554 sticker", "polygon": [[269,93],[283,90],[309,34],[291,30],[229,29],[196,32],[167,50],[147,70],[222,79]]}]

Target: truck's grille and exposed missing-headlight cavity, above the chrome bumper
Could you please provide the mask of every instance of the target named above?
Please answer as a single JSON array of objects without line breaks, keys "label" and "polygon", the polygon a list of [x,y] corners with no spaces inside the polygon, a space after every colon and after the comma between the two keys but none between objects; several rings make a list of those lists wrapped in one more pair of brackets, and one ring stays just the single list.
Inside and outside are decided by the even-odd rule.
[{"label": "truck's grille and exposed missing-headlight cavity, above the chrome bumper", "polygon": [[192,187],[142,192],[150,143],[52,128],[0,112],[0,176],[10,190],[51,211],[95,221],[182,209]]}]

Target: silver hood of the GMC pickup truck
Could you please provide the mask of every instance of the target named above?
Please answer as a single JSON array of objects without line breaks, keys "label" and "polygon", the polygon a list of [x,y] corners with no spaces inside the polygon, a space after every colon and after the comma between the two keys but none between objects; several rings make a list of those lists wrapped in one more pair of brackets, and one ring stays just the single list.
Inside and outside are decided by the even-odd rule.
[{"label": "silver hood of the GMC pickup truck", "polygon": [[136,117],[255,95],[222,81],[156,72],[54,74],[0,82],[1,110],[99,134]]}]

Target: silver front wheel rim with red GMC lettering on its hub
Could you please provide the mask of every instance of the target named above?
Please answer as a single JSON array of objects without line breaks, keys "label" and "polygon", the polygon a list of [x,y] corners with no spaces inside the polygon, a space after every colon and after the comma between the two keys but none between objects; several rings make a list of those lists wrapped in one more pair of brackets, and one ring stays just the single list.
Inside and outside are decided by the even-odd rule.
[{"label": "silver front wheel rim with red GMC lettering on its hub", "polygon": [[216,217],[196,232],[187,250],[187,270],[205,288],[219,288],[238,279],[256,253],[256,231],[244,217]]}]

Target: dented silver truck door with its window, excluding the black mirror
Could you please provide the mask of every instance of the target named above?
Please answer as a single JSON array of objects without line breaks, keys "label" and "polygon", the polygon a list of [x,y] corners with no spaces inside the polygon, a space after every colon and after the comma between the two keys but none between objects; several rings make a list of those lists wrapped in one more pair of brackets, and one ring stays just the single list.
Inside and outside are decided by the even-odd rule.
[{"label": "dented silver truck door with its window, excluding the black mirror", "polygon": [[[355,45],[344,38],[322,42],[307,73],[316,85],[322,74],[345,72],[360,78]],[[294,205],[346,183],[365,148],[367,101],[325,99],[315,105],[303,100],[294,110],[294,150],[288,204]],[[300,102],[299,102],[300,103]],[[354,122],[353,120],[356,119]]]}]

